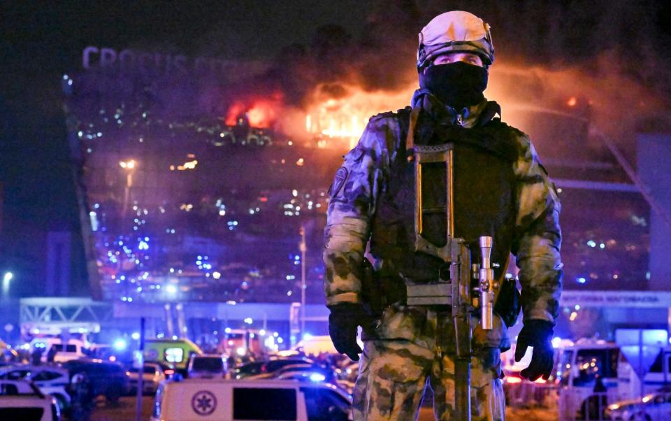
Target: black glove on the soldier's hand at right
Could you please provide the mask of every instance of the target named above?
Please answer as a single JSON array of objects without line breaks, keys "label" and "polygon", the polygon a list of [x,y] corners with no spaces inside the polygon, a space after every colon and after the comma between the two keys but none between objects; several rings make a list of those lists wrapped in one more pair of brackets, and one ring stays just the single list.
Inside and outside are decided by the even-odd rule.
[{"label": "black glove on the soldier's hand at right", "polygon": [[529,366],[520,372],[522,377],[533,381],[543,376],[547,380],[554,365],[554,349],[552,348],[552,324],[547,320],[528,320],[517,336],[515,362],[519,362],[526,354],[526,348],[533,347]]}]

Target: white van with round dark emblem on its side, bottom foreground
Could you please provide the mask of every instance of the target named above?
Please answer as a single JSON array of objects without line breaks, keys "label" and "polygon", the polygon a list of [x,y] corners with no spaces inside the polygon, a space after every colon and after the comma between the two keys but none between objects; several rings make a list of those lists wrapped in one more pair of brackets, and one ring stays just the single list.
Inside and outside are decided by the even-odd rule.
[{"label": "white van with round dark emblem on its side, bottom foreground", "polygon": [[326,383],[188,378],[161,383],[152,421],[347,421],[352,398]]}]

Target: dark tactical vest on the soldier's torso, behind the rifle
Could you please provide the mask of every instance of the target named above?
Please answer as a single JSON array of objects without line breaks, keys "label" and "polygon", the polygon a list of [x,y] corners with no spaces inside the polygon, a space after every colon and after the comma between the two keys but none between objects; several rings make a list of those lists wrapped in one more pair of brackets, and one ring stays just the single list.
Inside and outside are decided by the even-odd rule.
[{"label": "dark tactical vest on the soldier's torso, behind the rifle", "polygon": [[[474,251],[474,262],[479,259],[477,239],[493,237],[491,261],[500,264],[495,278],[501,279],[512,248],[517,196],[513,164],[518,157],[517,132],[500,121],[484,118],[466,129],[444,127],[433,123],[427,115],[419,114],[414,130],[418,145],[454,144],[454,234],[464,238]],[[380,272],[383,294],[387,303],[405,299],[405,281],[413,283],[437,280],[440,271],[449,271],[439,257],[414,251],[415,177],[412,150],[406,150],[410,108],[398,111],[401,139],[397,139],[397,153],[386,187],[380,194],[377,211],[372,221],[370,254],[382,259]],[[393,155],[392,155],[393,156]],[[424,180],[423,183],[426,183]],[[445,177],[436,177],[431,184],[445,191]],[[445,217],[429,220],[436,224],[435,232],[445,232]],[[434,236],[431,243],[439,247],[446,239]],[[442,242],[442,244],[441,244]]]}]

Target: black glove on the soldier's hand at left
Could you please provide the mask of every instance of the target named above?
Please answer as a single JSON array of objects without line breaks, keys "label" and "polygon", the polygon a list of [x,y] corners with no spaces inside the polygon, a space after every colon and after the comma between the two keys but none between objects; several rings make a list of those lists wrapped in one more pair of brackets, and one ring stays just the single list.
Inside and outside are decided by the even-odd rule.
[{"label": "black glove on the soldier's hand at left", "polygon": [[340,354],[345,354],[353,361],[359,361],[362,350],[356,343],[356,331],[359,325],[368,320],[368,315],[361,304],[341,303],[330,306],[329,336]]}]

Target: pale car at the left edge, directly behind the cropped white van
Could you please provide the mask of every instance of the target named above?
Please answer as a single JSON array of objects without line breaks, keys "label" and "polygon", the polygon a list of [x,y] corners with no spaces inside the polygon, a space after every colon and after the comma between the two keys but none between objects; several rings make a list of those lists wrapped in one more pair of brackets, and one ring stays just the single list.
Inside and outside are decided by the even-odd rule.
[{"label": "pale car at the left edge, directly behind the cropped white van", "polygon": [[61,412],[65,411],[71,403],[68,385],[70,377],[68,371],[56,365],[15,365],[0,369],[0,379],[3,380],[29,380],[33,382],[40,392],[54,397]]}]

